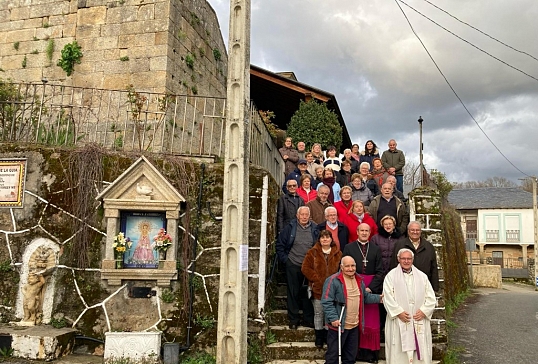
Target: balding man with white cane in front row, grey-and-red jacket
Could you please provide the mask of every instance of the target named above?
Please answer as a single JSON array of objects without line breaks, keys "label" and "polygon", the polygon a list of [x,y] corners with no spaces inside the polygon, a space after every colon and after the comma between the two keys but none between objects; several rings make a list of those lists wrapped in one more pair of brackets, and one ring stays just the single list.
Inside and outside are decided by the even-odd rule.
[{"label": "balding man with white cane in front row, grey-and-red jacket", "polygon": [[342,258],[340,272],[327,278],[321,296],[329,328],[326,364],[355,363],[359,328],[364,328],[364,304],[380,303],[382,297],[366,291],[362,278],[356,273],[352,257]]}]

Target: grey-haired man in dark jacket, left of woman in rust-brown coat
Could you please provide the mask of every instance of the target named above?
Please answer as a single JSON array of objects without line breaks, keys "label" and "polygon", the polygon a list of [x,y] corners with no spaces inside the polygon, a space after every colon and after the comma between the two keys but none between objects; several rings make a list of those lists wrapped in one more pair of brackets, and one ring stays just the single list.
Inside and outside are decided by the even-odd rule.
[{"label": "grey-haired man in dark jacket, left of woman in rust-brown coat", "polygon": [[306,291],[302,292],[307,280],[301,267],[306,253],[315,243],[316,226],[310,221],[310,209],[301,206],[297,210],[297,219],[292,220],[278,235],[276,253],[278,259],[286,265],[287,308],[289,328],[297,330],[299,325],[299,308],[303,309],[304,326],[314,327],[314,307]]}]

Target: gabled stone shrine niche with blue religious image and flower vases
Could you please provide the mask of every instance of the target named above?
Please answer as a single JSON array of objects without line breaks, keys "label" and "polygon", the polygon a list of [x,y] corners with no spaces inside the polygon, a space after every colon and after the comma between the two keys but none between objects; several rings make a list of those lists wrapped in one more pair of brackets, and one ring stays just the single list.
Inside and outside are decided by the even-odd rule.
[{"label": "gabled stone shrine niche with blue religious image and flower vases", "polygon": [[[103,202],[107,226],[101,278],[111,286],[123,280],[169,286],[177,279],[177,230],[185,199],[155,166],[140,157],[97,199]],[[115,250],[115,240],[124,251]],[[166,253],[158,250],[162,240],[170,242]]]}]

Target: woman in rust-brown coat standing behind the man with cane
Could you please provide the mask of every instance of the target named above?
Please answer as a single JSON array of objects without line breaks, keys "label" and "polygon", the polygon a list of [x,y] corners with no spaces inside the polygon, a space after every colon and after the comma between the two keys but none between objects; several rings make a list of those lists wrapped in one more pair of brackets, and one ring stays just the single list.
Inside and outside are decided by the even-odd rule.
[{"label": "woman in rust-brown coat standing behind the man with cane", "polygon": [[306,253],[301,272],[308,279],[312,290],[312,304],[314,306],[314,328],[316,329],[316,347],[322,348],[327,338],[325,331],[325,317],[321,306],[321,291],[327,277],[338,272],[342,252],[333,242],[331,232],[321,230],[319,239]]}]

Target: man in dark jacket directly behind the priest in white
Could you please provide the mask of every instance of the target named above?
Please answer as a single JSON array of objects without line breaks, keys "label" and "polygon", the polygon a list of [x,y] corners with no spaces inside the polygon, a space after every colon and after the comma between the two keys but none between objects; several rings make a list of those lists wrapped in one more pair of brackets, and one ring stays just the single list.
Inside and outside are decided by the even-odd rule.
[{"label": "man in dark jacket directly behind the priest in white", "polygon": [[421,236],[421,232],[422,226],[418,221],[411,221],[409,225],[407,225],[408,237],[400,238],[396,244],[394,244],[390,269],[393,269],[398,265],[396,255],[400,249],[410,249],[415,254],[413,265],[428,276],[428,280],[430,281],[433,290],[438,292],[439,272],[437,269],[437,255],[435,254],[435,248],[432,243],[424,239]]}]

